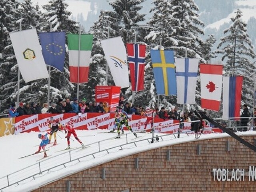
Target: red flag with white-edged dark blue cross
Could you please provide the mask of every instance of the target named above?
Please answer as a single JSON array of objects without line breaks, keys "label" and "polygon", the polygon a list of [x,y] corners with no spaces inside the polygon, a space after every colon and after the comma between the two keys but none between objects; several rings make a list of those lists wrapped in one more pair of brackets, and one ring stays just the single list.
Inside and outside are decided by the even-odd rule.
[{"label": "red flag with white-edged dark blue cross", "polygon": [[146,45],[127,43],[126,47],[130,66],[132,91],[144,90]]}]

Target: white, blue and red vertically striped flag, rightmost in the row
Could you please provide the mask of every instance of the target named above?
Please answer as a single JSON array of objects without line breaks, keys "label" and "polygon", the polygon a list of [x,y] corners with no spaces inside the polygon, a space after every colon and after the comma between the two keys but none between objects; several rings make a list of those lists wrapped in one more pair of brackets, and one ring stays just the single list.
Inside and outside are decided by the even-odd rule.
[{"label": "white, blue and red vertically striped flag, rightmost in the row", "polygon": [[243,77],[223,77],[223,118],[240,117]]}]

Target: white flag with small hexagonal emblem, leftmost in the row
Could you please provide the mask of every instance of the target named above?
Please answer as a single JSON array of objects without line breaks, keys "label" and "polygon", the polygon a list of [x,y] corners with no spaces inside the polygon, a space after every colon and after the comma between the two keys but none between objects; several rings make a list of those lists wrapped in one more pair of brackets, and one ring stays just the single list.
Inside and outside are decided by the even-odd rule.
[{"label": "white flag with small hexagonal emblem, leftmost in the row", "polygon": [[10,37],[24,81],[49,78],[36,29],[12,32]]}]

